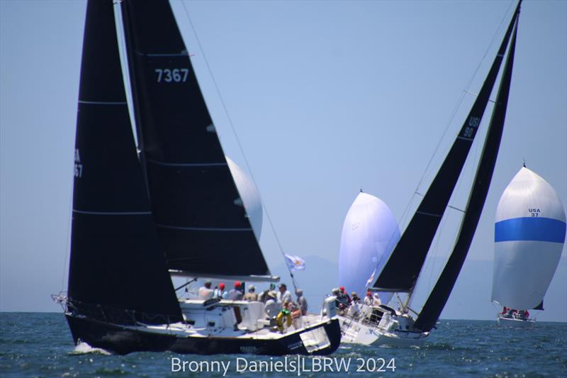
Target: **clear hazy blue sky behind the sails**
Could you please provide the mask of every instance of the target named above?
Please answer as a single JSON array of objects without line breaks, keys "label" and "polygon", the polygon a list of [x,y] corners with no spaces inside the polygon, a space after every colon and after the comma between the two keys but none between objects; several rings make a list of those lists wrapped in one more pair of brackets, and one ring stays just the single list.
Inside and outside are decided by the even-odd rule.
[{"label": "clear hazy blue sky behind the sails", "polygon": [[[273,223],[264,213],[269,267],[282,263],[274,232],[284,252],[336,265],[344,216],[360,189],[405,227],[513,6],[172,1],[225,153],[251,172]],[[85,10],[78,0],[0,0],[0,311],[58,311],[50,294],[66,287]],[[493,260],[498,199],[524,161],[567,204],[566,104],[567,1],[524,1],[503,140],[469,261]],[[451,199],[457,208],[480,150],[473,145]],[[459,212],[446,218],[429,262],[451,250]],[[558,306],[542,320],[567,321],[566,253],[546,297]],[[441,268],[427,263],[427,277]],[[474,287],[463,273],[458,285]],[[478,306],[490,306],[485,291]],[[451,296],[446,310],[459,301]]]}]

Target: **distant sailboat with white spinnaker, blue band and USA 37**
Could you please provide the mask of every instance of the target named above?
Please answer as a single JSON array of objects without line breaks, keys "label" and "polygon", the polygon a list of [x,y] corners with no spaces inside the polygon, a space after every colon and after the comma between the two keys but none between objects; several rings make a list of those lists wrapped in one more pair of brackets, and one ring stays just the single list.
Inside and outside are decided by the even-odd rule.
[{"label": "distant sailboat with white spinnaker, blue band and USA 37", "polygon": [[556,191],[524,165],[498,202],[494,231],[492,301],[504,306],[503,326],[533,326],[527,309],[544,309],[566,234]]}]

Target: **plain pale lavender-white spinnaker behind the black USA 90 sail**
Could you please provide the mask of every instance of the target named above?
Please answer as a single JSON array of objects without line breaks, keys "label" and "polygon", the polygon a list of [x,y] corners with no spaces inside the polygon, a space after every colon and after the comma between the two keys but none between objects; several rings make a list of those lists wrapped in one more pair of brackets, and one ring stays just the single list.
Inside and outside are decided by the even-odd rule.
[{"label": "plain pale lavender-white spinnaker behind the black USA 90 sail", "polygon": [[[376,277],[400,239],[398,222],[381,199],[360,193],[344,218],[339,252],[339,284],[364,298],[366,281],[374,269]],[[380,293],[383,304],[391,293]]]}]

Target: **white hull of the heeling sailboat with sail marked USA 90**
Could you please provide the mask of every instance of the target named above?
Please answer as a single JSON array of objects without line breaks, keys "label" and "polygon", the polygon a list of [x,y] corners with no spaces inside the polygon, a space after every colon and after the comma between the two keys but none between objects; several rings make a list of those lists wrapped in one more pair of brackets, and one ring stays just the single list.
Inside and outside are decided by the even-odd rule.
[{"label": "white hull of the heeling sailboat with sail marked USA 90", "polygon": [[[362,313],[365,307],[362,307]],[[341,342],[400,347],[422,345],[430,333],[412,330],[413,323],[414,320],[409,316],[393,316],[391,313],[383,313],[377,323],[370,316],[357,319],[339,316]]]}]

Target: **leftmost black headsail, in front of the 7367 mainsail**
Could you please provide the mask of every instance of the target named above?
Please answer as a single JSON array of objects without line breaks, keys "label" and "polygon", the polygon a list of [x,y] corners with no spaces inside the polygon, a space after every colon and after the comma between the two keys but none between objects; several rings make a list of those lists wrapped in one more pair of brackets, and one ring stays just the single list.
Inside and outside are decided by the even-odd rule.
[{"label": "leftmost black headsail, in front of the 7367 mainsail", "polygon": [[87,5],[78,109],[69,311],[118,324],[180,321],[136,155],[112,1]]}]

